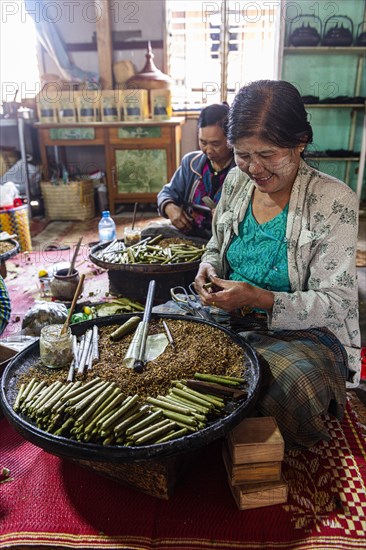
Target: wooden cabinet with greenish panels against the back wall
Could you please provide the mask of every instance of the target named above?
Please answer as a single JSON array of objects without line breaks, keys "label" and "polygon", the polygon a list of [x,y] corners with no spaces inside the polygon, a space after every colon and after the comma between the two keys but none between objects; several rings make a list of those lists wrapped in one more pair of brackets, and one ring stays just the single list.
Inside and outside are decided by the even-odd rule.
[{"label": "wooden cabinet with greenish panels against the back wall", "polygon": [[37,124],[45,177],[51,147],[67,166],[67,147],[102,146],[111,213],[119,203],[155,202],[180,163],[184,121]]}]

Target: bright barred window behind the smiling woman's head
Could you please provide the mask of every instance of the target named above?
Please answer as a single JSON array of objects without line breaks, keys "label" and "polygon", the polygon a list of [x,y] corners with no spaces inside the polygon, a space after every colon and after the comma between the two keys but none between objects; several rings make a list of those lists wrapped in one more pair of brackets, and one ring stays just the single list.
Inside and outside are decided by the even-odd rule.
[{"label": "bright barred window behind the smiling woman's head", "polygon": [[174,109],[228,101],[245,83],[278,78],[281,0],[166,0]]}]

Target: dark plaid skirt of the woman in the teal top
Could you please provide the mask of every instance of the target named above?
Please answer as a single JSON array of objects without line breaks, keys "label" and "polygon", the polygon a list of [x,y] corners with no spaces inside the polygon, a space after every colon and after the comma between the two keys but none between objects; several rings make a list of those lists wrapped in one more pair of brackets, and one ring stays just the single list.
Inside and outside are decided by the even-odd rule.
[{"label": "dark plaid skirt of the woman in the teal top", "polygon": [[275,417],[287,448],[329,439],[325,415],[343,418],[348,361],[326,328],[240,332],[257,352],[262,383],[255,412]]}]

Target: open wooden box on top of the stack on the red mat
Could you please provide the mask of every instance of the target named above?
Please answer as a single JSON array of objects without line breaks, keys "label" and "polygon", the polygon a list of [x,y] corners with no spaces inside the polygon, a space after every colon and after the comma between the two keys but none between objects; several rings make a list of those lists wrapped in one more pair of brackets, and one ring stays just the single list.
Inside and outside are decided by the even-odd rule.
[{"label": "open wooden box on top of the stack on the red mat", "polygon": [[227,434],[226,442],[233,464],[283,460],[285,443],[272,416],[244,418]]}]

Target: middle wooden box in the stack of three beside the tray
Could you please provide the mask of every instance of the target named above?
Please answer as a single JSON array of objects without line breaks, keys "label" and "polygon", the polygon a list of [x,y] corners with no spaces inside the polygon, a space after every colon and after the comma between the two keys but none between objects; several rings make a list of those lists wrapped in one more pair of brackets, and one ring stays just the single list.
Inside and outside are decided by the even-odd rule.
[{"label": "middle wooden box in the stack of three beside the tray", "polygon": [[222,448],[222,458],[231,485],[278,481],[281,479],[282,463],[279,461],[233,464],[225,444]]}]

